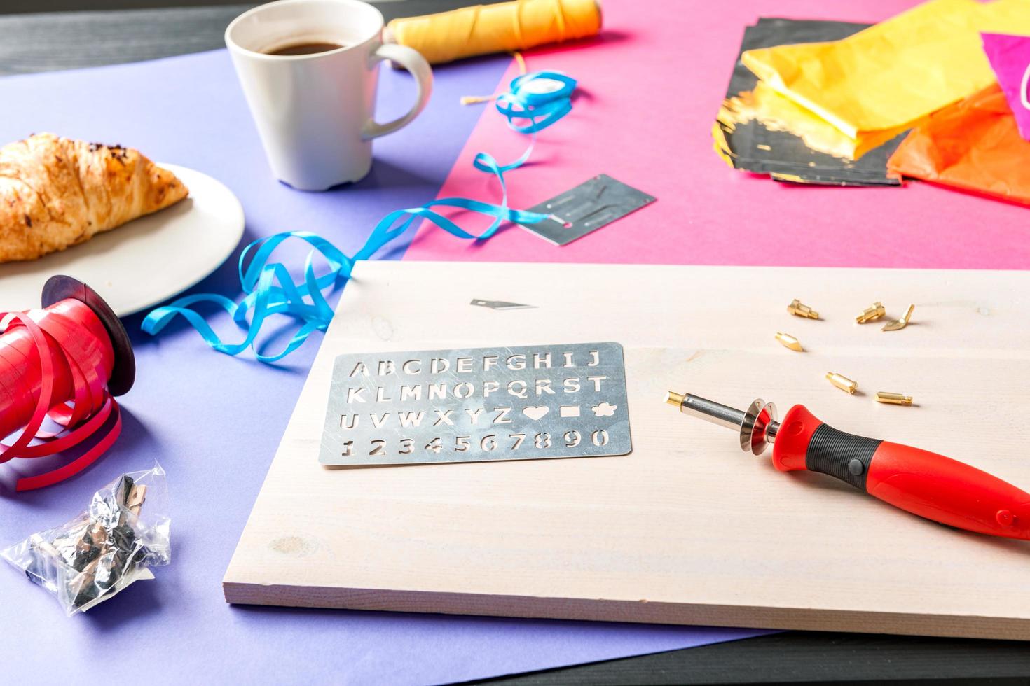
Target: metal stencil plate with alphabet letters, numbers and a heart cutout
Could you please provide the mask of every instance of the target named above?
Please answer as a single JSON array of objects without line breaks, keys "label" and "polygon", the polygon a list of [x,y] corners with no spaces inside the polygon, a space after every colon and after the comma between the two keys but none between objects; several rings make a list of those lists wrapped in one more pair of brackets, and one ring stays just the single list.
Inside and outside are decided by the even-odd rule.
[{"label": "metal stencil plate with alphabet letters, numbers and a heart cutout", "polygon": [[341,355],[319,462],[401,465],[626,455],[622,346]]}]

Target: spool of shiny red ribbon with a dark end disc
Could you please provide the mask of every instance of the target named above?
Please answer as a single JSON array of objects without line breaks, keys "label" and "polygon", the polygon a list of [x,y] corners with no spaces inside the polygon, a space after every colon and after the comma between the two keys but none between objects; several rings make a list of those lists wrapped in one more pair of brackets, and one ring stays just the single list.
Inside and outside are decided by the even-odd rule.
[{"label": "spool of shiny red ribbon with a dark end disc", "polygon": [[[93,289],[53,277],[42,304],[0,315],[0,438],[22,430],[12,443],[0,443],[0,463],[56,455],[110,428],[67,465],[19,479],[19,491],[52,485],[96,462],[122,431],[114,396],[136,376],[129,335]],[[47,417],[59,431],[42,429]],[[30,444],[33,439],[39,442]]]}]

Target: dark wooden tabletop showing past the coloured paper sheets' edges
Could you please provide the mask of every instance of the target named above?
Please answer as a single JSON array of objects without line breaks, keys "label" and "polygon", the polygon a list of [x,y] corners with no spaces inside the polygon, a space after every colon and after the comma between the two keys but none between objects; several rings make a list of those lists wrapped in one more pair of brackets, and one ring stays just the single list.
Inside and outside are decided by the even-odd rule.
[{"label": "dark wooden tabletop showing past the coloured paper sheets' edges", "polygon": [[[0,75],[134,62],[222,47],[226,25],[251,6],[98,9],[101,6],[161,5],[169,1],[175,2],[0,0],[0,13],[94,7],[91,11],[0,15]],[[201,5],[204,2],[180,0],[179,4]],[[470,3],[468,0],[406,0],[373,4],[388,21],[402,14],[421,14]],[[519,686],[797,682],[1030,684],[1030,645],[790,631],[490,680],[490,683]]]}]

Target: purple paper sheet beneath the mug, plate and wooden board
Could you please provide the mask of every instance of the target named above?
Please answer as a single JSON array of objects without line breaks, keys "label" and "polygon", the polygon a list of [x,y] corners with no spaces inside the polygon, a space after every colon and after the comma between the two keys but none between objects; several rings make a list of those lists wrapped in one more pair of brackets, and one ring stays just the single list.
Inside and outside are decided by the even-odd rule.
[{"label": "purple paper sheet beneath the mug, plate and wooden board", "polygon": [[[438,69],[425,112],[376,142],[372,175],[327,193],[290,190],[271,177],[224,50],[0,79],[0,141],[53,131],[138,147],[232,188],[246,213],[245,241],[309,229],[351,252],[388,211],[436,196],[483,111],[461,107],[459,96],[493,92],[508,62]],[[385,119],[407,107],[413,85],[403,73],[385,69],[382,76]],[[236,257],[196,290],[237,295]],[[24,467],[0,466],[0,545],[67,520],[100,484],[159,460],[172,499],[172,565],[71,619],[2,566],[4,683],[440,683],[761,634],[226,605],[222,574],[320,336],[285,364],[266,366],[214,353],[181,324],[158,338],[140,333],[139,324],[139,316],[126,320],[138,376],[124,398],[118,442],[83,474],[40,492],[14,494],[15,470]]]}]

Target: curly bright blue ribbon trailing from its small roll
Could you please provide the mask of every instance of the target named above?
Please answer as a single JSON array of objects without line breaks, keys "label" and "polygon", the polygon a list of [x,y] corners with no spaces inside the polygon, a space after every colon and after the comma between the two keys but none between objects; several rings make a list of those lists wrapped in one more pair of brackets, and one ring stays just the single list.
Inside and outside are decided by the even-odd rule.
[{"label": "curly bright blue ribbon trailing from its small roll", "polygon": [[[343,254],[328,240],[311,231],[283,231],[258,239],[240,254],[240,285],[246,293],[242,300],[234,302],[217,293],[186,295],[152,310],[143,319],[143,331],[157,335],[176,316],[181,316],[197,329],[208,346],[219,353],[239,355],[247,348],[253,348],[259,361],[276,362],[300,348],[313,332],[324,331],[329,327],[334,313],[323,291],[345,284],[357,260],[371,258],[383,246],[407,232],[416,219],[427,220],[451,236],[467,241],[489,239],[505,221],[520,224],[543,221],[548,215],[508,207],[505,173],[518,169],[529,159],[537,132],[557,123],[572,111],[572,96],[575,91],[576,79],[560,72],[541,71],[514,78],[510,89],[495,99],[497,111],[508,119],[508,125],[520,134],[533,137],[525,152],[507,165],[499,164],[487,152],[480,152],[473,159],[476,169],[493,174],[500,182],[500,205],[471,197],[443,197],[421,207],[396,210],[376,224],[368,241],[353,257]],[[493,221],[485,230],[476,234],[435,212],[433,208],[458,208],[493,217]],[[294,281],[284,264],[270,261],[276,248],[290,239],[305,241],[311,246],[304,263],[304,278],[299,283]],[[315,259],[319,255],[329,265],[329,270],[320,275],[315,270]],[[243,340],[236,344],[224,341],[207,320],[194,310],[194,305],[199,303],[214,303],[228,312],[238,326],[246,329]],[[286,315],[300,320],[302,324],[282,350],[265,354],[259,350],[256,338],[265,321],[273,315]]]}]

